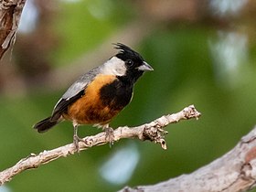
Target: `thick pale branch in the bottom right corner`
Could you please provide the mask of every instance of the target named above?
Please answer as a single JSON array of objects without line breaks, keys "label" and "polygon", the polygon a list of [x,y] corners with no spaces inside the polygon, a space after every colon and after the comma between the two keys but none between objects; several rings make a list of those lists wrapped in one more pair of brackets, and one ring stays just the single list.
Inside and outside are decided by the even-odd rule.
[{"label": "thick pale branch in the bottom right corner", "polygon": [[242,137],[226,155],[194,173],[139,187],[124,187],[120,192],[197,191],[238,192],[256,186],[256,126]]}]

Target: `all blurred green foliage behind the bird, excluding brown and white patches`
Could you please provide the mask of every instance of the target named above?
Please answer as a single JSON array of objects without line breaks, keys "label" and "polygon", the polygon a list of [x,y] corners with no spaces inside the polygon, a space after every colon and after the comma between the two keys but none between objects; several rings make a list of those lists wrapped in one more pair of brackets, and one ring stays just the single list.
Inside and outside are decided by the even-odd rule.
[{"label": "all blurred green foliage behind the bird, excluding brown and white patches", "polygon": [[[108,7],[104,9],[108,13],[100,19],[101,16],[91,14],[93,7],[100,10]],[[57,66],[67,65],[69,60],[100,44],[136,16],[136,9],[126,1],[63,3],[60,10],[54,29],[65,40],[53,56]],[[189,104],[195,104],[202,113],[198,121],[185,121],[166,128],[169,132],[165,137],[166,151],[149,142],[123,140],[111,148],[109,145],[94,147],[80,155],[26,171],[6,187],[19,192],[115,191],[126,185],[150,185],[190,173],[228,152],[255,124],[256,48],[254,44],[249,46],[247,59],[239,61],[231,84],[227,83],[229,75],[219,81],[219,69],[214,65],[214,58],[218,56],[210,49],[211,44],[219,41],[217,30],[216,27],[187,24],[155,27],[135,48],[155,70],[144,74],[136,84],[133,101],[114,119],[113,127],[150,122]],[[44,92],[42,87],[24,97],[0,97],[0,170],[30,153],[37,154],[72,142],[71,123],[60,123],[44,134],[31,128],[37,120],[50,114],[62,93],[63,90]],[[80,135],[99,132],[91,126],[80,127]],[[130,144],[139,152],[133,176],[124,184],[108,183],[99,171],[101,165]]]}]

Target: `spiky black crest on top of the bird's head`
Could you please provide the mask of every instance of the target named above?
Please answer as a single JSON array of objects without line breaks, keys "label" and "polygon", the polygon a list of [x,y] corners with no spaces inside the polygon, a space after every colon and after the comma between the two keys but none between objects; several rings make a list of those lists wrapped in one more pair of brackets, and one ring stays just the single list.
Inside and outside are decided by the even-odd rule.
[{"label": "spiky black crest on top of the bird's head", "polygon": [[116,43],[114,48],[119,49],[119,53],[116,54],[117,58],[127,60],[127,59],[134,59],[137,61],[144,61],[143,57],[134,51],[132,48],[129,48],[128,46],[123,45],[122,43]]}]

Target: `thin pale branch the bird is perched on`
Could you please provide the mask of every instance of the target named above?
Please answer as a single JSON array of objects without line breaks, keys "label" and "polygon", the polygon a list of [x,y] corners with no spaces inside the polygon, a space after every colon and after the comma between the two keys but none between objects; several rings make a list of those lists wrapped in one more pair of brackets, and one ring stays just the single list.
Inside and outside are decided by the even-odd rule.
[{"label": "thin pale branch the bird is perched on", "polygon": [[[152,123],[145,123],[137,127],[119,127],[114,130],[114,142],[117,142],[123,138],[138,138],[142,141],[149,140],[155,144],[161,144],[162,148],[166,149],[166,143],[164,134],[167,133],[163,130],[169,123],[177,123],[180,120],[187,120],[191,118],[198,118],[200,112],[197,112],[194,105],[190,105],[181,112],[174,114],[164,115],[156,119]],[[93,136],[87,136],[83,138],[84,143],[80,142],[80,151],[97,146],[101,144],[107,144],[105,133],[98,133]],[[5,169],[0,172],[0,186],[5,182],[10,181],[17,174],[32,168],[37,168],[40,165],[48,164],[49,162],[58,159],[59,157],[66,157],[76,153],[76,147],[74,144],[67,144],[60,146],[59,148],[41,152],[39,155],[30,154],[26,158],[21,159],[16,165]]]}]

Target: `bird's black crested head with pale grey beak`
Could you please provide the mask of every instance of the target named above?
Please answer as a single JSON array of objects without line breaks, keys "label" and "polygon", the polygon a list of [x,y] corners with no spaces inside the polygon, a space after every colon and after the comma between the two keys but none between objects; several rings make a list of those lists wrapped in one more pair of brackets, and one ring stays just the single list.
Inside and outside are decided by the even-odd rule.
[{"label": "bird's black crested head with pale grey beak", "polygon": [[145,70],[153,70],[153,68],[148,65],[143,57],[134,51],[132,48],[129,48],[122,43],[114,44],[116,49],[120,51],[115,55],[116,58],[122,59],[126,67],[126,78],[136,81],[141,77]]}]

